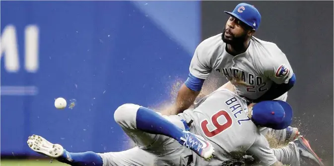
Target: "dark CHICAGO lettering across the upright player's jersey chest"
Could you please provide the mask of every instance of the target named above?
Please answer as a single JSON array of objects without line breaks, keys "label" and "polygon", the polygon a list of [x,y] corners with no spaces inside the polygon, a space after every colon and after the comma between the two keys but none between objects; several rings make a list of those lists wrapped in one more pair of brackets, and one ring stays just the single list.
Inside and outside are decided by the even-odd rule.
[{"label": "dark CHICAGO lettering across the upright player's jersey chest", "polygon": [[236,69],[236,68],[217,68],[215,69],[217,72],[222,73],[225,77],[229,80],[232,79],[239,79],[239,85],[247,86],[248,92],[257,92],[253,90],[256,86],[258,86],[258,91],[266,91],[268,90],[265,88],[266,82],[264,82],[262,77],[254,76],[252,73],[246,74],[245,71]]}]

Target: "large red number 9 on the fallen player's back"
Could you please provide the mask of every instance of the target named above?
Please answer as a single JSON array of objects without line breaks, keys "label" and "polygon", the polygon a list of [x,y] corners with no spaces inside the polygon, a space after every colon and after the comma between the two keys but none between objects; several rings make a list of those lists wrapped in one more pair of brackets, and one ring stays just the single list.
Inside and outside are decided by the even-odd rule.
[{"label": "large red number 9 on the fallen player's back", "polygon": [[[218,118],[224,118],[227,120],[224,124],[219,124]],[[214,126],[214,130],[209,130],[207,125]],[[232,125],[232,118],[231,116],[224,110],[217,111],[215,114],[212,115],[211,120],[204,119],[200,122],[200,128],[202,129],[203,133],[206,137],[214,137],[218,135],[219,133],[223,132],[227,128],[229,128]]]}]

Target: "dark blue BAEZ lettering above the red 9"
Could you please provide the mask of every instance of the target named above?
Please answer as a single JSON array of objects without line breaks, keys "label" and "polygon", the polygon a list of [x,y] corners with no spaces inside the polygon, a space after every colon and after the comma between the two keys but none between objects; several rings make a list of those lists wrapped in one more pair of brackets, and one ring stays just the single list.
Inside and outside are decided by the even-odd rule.
[{"label": "dark blue BAEZ lettering above the red 9", "polygon": [[229,100],[225,101],[225,104],[229,108],[229,110],[233,113],[233,117],[238,121],[239,125],[242,125],[243,121],[251,120],[247,115],[246,115],[246,118],[238,117],[238,115],[240,116],[242,114],[242,111],[244,110],[241,104],[238,102],[238,100],[235,97],[230,98]]}]

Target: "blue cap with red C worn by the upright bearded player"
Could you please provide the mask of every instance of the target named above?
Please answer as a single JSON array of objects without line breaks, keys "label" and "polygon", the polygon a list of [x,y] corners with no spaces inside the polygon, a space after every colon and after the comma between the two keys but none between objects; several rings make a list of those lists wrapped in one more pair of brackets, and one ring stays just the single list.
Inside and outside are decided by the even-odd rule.
[{"label": "blue cap with red C worn by the upright bearded player", "polygon": [[261,22],[261,14],[253,5],[247,3],[238,4],[232,12],[224,11],[230,14],[250,27],[257,30]]}]

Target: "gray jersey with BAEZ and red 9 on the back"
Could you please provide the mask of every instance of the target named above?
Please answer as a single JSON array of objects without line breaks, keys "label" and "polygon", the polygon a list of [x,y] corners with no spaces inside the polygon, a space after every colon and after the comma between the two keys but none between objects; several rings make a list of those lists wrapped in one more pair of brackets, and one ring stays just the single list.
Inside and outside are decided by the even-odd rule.
[{"label": "gray jersey with BAEZ and red 9 on the back", "polygon": [[221,89],[204,97],[196,109],[179,114],[186,120],[193,119],[191,131],[214,146],[215,158],[207,163],[196,157],[196,165],[215,166],[246,154],[258,158],[264,166],[271,166],[277,161],[267,139],[260,134],[247,112],[244,99]]}]

